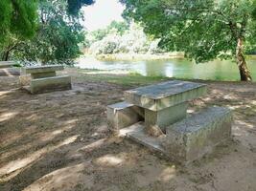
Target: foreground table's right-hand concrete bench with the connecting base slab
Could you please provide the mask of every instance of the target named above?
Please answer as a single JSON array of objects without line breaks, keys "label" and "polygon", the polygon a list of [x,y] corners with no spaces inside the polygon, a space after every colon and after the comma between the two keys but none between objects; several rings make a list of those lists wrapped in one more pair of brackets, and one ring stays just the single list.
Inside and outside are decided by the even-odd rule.
[{"label": "foreground table's right-hand concrete bench with the connecting base slab", "polygon": [[120,135],[148,147],[161,158],[187,164],[231,138],[231,122],[229,109],[213,107],[175,123],[160,137],[149,136],[143,122],[120,130]]}]

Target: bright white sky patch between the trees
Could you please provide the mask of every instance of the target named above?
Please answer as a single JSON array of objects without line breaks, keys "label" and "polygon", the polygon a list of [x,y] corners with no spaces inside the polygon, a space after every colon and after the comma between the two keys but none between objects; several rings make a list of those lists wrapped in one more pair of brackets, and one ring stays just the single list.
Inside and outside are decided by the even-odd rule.
[{"label": "bright white sky patch between the trees", "polygon": [[122,21],[123,5],[118,0],[96,0],[92,6],[82,8],[84,12],[83,26],[88,31],[105,28],[113,20]]}]

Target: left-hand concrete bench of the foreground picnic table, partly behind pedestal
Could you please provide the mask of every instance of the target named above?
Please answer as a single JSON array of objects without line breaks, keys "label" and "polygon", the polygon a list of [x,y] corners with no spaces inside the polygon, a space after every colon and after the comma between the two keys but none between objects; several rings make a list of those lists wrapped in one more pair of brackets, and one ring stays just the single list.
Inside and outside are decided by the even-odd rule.
[{"label": "left-hand concrete bench of the foreground picnic table, partly behind pedestal", "polygon": [[140,120],[143,120],[144,110],[128,102],[108,105],[106,108],[109,129],[118,132]]}]

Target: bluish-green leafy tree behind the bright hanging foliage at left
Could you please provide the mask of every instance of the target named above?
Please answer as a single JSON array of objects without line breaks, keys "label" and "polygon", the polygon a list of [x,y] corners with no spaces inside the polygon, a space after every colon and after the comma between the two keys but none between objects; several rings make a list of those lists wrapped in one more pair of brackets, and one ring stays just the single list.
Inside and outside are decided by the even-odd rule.
[{"label": "bluish-green leafy tree behind the bright hanging foliage at left", "polygon": [[84,33],[79,20],[69,17],[63,0],[41,0],[38,7],[39,26],[30,41],[20,43],[14,51],[23,61],[72,64],[80,52]]}]

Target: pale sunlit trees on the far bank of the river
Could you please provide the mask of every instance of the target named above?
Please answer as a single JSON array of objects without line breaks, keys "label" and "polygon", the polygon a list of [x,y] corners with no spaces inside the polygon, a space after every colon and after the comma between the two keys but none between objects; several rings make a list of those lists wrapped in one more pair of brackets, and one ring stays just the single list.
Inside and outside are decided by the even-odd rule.
[{"label": "pale sunlit trees on the far bank of the river", "polygon": [[135,23],[112,22],[106,29],[91,32],[90,52],[101,53],[160,53],[159,40],[151,40]]}]

